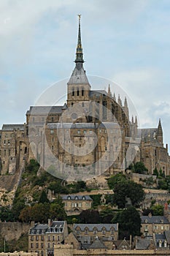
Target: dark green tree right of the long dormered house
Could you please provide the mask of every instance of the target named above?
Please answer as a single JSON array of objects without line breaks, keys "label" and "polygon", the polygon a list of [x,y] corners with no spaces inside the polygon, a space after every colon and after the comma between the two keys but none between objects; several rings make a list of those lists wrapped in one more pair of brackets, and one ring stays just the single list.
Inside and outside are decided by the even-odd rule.
[{"label": "dark green tree right of the long dormered house", "polygon": [[141,218],[139,212],[133,206],[117,213],[112,219],[113,223],[119,223],[119,238],[140,236]]}]

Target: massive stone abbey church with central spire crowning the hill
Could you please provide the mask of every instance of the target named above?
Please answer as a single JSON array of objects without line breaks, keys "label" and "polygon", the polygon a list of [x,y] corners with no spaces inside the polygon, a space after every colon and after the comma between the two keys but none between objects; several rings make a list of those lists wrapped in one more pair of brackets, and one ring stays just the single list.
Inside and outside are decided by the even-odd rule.
[{"label": "massive stone abbey church with central spire crowning the hill", "polygon": [[116,99],[109,85],[107,91],[92,89],[83,68],[80,18],[74,62],[66,103],[31,106],[26,123],[2,126],[1,175],[20,172],[30,159],[63,179],[124,172],[131,162],[143,162],[150,174],[156,167],[170,175],[161,120],[158,127],[139,129],[126,98]]}]

